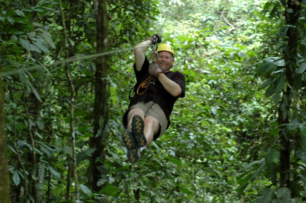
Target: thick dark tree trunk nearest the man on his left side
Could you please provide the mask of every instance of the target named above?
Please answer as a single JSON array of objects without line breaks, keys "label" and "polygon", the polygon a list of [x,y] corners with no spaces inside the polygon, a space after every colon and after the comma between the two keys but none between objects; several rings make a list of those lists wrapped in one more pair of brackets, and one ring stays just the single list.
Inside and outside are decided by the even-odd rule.
[{"label": "thick dark tree trunk nearest the man on his left side", "polygon": [[[97,53],[105,52],[108,38],[108,14],[106,0],[94,0],[96,27],[97,27]],[[100,172],[97,167],[103,165],[105,159],[104,139],[106,136],[106,123],[108,117],[107,106],[107,57],[98,57],[95,72],[95,104],[94,104],[94,135],[90,139],[91,147],[96,148],[91,158],[91,188],[98,192],[102,186],[97,186]],[[100,160],[98,160],[100,159]]]}]

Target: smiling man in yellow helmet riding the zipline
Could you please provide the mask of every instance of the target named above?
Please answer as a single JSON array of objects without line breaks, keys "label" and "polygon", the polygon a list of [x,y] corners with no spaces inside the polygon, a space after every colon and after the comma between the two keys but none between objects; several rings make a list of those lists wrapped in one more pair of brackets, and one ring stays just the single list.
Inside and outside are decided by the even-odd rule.
[{"label": "smiling man in yellow helmet riding the zipline", "polygon": [[[137,81],[134,86],[135,97],[130,98],[129,109],[122,118],[125,127],[122,141],[128,149],[127,156],[132,163],[138,161],[140,152],[152,140],[157,139],[168,129],[175,101],[178,97],[185,96],[184,75],[170,71],[175,56],[171,45],[159,45],[156,50],[158,53],[156,63],[149,63],[144,56],[154,37],[157,38],[157,42],[162,41],[160,34],[153,34],[149,40],[140,42],[134,49],[133,67]],[[146,79],[150,82],[146,83]],[[142,86],[145,88],[141,88]]]}]

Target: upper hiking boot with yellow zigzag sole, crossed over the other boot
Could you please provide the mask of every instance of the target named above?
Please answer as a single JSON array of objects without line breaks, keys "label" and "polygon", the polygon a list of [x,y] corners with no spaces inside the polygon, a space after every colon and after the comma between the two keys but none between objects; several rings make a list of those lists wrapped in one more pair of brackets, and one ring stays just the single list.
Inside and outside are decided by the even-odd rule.
[{"label": "upper hiking boot with yellow zigzag sole, crossed over the other boot", "polygon": [[140,115],[135,115],[132,119],[132,134],[136,139],[138,147],[147,145],[147,140],[144,137],[144,121]]}]

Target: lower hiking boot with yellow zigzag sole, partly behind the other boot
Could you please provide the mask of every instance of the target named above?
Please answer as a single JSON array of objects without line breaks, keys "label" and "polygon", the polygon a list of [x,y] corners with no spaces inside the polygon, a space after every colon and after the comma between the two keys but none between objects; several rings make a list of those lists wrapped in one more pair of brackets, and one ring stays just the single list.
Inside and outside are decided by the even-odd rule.
[{"label": "lower hiking boot with yellow zigzag sole, partly behind the other boot", "polygon": [[125,129],[122,133],[122,142],[125,147],[128,149],[127,157],[131,163],[136,163],[139,159],[137,154],[137,143],[135,138],[132,135],[132,132],[128,129]]}]

